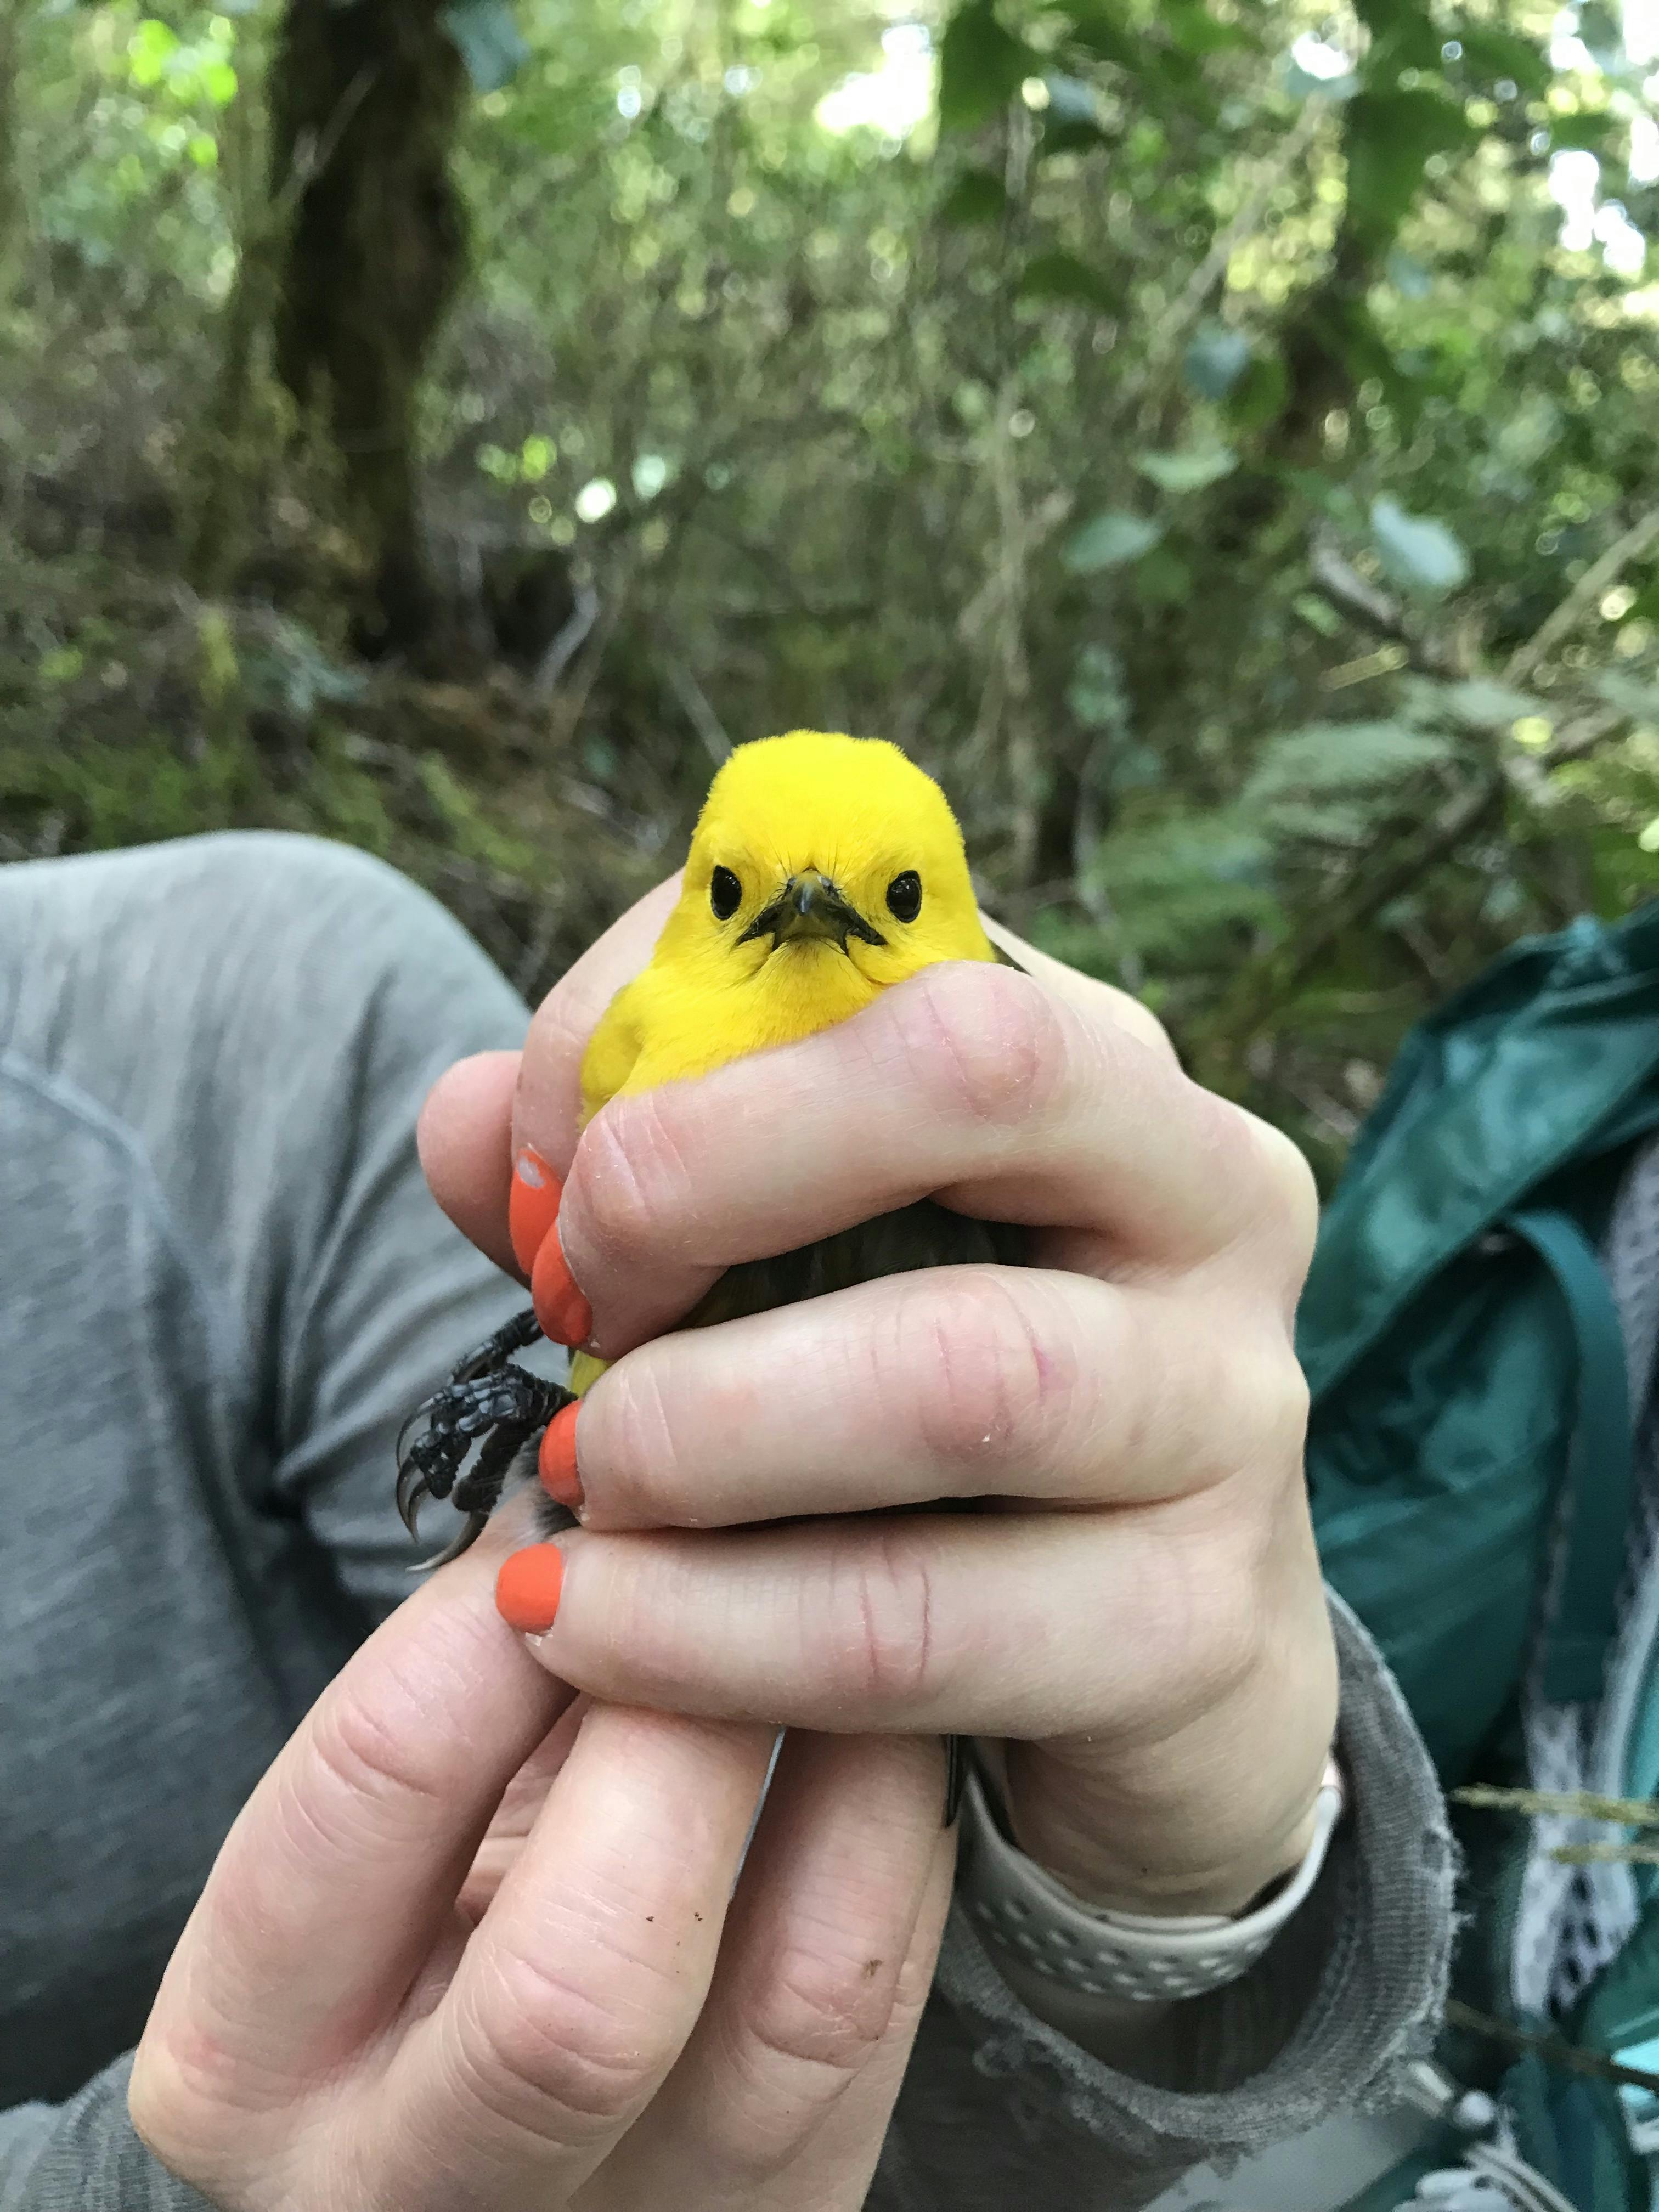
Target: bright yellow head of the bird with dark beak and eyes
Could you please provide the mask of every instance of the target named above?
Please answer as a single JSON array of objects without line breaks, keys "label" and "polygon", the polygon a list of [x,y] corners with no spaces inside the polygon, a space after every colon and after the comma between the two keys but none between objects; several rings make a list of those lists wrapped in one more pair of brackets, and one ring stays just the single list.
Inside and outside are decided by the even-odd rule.
[{"label": "bright yellow head of the bird with dark beak and eyes", "polygon": [[739,745],[714,776],[661,951],[825,1022],[936,960],[993,958],[938,783],[821,730]]}]

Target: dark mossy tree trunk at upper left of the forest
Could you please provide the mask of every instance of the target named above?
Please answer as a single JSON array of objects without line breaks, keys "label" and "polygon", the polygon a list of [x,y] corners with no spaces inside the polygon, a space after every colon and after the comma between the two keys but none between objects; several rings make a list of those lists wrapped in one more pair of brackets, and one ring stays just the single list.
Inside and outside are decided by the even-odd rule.
[{"label": "dark mossy tree trunk at upper left of the forest", "polygon": [[449,148],[465,71],[440,0],[290,0],[272,69],[272,201],[296,197],[276,374],[325,407],[374,566],[369,653],[431,653],[414,398],[467,263]]}]

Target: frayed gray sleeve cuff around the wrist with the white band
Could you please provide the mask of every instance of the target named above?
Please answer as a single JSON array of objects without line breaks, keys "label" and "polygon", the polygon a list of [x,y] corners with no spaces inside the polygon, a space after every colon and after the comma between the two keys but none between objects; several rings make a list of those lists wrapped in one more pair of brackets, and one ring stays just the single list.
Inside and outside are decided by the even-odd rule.
[{"label": "frayed gray sleeve cuff around the wrist with the white band", "polygon": [[1037,2020],[958,1909],[872,2212],[1144,2205],[1192,2166],[1374,2104],[1427,2053],[1451,1947],[1453,1849],[1394,1677],[1338,1597],[1352,1807],[1307,1905],[1230,1989],[1161,2011],[1135,2073]]}]

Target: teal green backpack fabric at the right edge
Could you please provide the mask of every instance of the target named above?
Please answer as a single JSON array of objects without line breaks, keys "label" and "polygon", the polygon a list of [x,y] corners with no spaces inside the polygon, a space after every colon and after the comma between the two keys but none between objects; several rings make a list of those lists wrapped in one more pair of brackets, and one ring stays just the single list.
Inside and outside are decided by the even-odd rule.
[{"label": "teal green backpack fabric at the right edge", "polygon": [[1420,1024],[1325,1212],[1298,1314],[1314,1526],[1447,1785],[1520,1683],[1568,1471],[1582,1544],[1551,1694],[1597,1688],[1628,1409],[1613,1321],[1568,1301],[1595,1279],[1573,1245],[1657,1124],[1659,902],[1513,947]]}]

